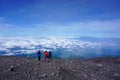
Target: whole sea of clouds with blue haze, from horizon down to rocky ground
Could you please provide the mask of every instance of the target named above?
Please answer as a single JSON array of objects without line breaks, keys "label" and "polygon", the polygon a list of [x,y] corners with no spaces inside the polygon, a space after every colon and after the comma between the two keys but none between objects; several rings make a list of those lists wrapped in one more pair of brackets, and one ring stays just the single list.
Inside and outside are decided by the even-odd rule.
[{"label": "whole sea of clouds with blue haze, from horizon down to rocky ground", "polygon": [[120,46],[113,42],[80,40],[79,38],[0,37],[0,55],[36,55],[52,51],[54,58],[93,58],[119,56]]}]

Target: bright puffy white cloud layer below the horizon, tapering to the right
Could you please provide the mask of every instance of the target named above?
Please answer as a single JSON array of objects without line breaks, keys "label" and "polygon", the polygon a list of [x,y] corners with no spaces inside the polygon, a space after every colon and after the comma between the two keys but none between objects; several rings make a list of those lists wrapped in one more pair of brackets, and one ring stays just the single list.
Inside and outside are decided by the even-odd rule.
[{"label": "bright puffy white cloud layer below the horizon, tapering to the right", "polygon": [[[35,37],[0,37],[0,51],[6,51],[13,54],[31,54],[36,53],[37,49],[57,50],[65,49],[65,51],[82,51],[83,49],[95,49],[103,46],[114,46],[110,43],[98,43],[81,41],[77,39],[61,39],[61,38],[35,38]],[[74,53],[79,54],[79,53]]]}]

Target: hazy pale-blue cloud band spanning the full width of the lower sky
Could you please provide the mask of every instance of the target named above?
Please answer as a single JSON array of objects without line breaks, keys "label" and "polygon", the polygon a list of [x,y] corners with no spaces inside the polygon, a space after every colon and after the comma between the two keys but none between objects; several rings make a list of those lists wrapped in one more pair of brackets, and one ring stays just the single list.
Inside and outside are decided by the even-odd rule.
[{"label": "hazy pale-blue cloud band spanning the full width of the lower sky", "polygon": [[[29,27],[0,23],[1,34],[61,37],[119,37],[120,19],[71,23],[38,23]],[[3,32],[3,33],[2,33]]]}]

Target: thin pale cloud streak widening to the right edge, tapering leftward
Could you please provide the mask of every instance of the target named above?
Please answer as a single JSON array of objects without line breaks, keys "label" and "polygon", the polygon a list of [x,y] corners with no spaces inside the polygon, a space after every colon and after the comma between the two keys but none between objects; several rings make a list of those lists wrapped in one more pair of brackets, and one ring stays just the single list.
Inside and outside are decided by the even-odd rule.
[{"label": "thin pale cloud streak widening to the right edge, tapering leftward", "polygon": [[93,37],[119,37],[120,19],[106,21],[86,21],[71,23],[45,23],[37,24],[38,29],[45,29],[47,34],[63,36],[93,36]]}]

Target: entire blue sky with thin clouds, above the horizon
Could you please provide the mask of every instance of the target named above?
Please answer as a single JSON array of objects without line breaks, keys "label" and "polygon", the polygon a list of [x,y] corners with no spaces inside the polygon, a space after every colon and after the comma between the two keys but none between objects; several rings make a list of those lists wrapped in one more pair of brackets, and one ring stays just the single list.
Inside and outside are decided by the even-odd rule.
[{"label": "entire blue sky with thin clouds, above the horizon", "polygon": [[120,0],[0,0],[0,36],[120,38]]}]

